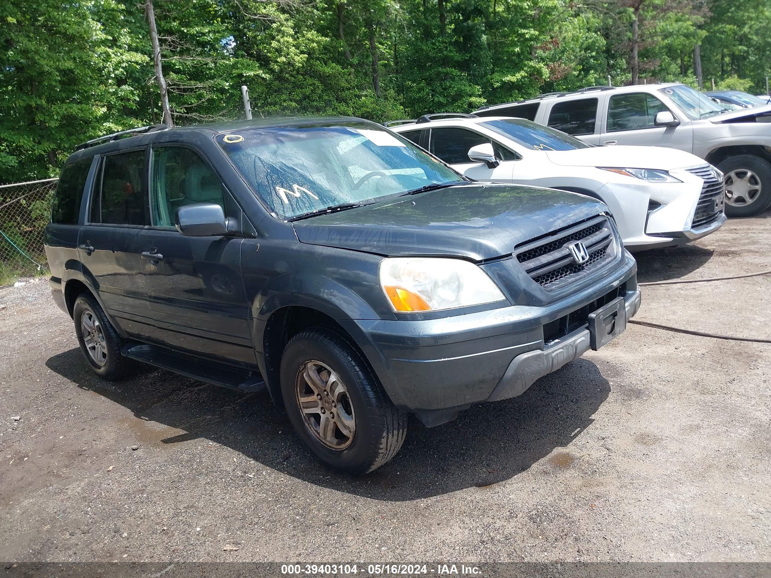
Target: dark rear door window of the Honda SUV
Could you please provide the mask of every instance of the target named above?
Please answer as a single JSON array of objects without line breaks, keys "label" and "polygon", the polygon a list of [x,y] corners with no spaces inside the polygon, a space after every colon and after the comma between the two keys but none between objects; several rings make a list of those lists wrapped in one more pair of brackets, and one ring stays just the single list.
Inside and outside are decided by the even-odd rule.
[{"label": "dark rear door window of the Honda SUV", "polygon": [[[144,157],[144,150],[133,150],[104,158],[101,194],[91,206],[92,222],[111,225],[150,224]],[[98,206],[94,204],[97,200]]]}]

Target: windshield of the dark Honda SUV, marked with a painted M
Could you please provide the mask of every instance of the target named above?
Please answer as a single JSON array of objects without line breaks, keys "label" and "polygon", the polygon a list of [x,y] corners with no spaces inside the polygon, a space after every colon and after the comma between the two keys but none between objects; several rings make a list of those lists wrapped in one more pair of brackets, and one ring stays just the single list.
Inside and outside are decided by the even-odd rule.
[{"label": "windshield of the dark Honda SUV, marked with a painted M", "polygon": [[285,220],[465,182],[409,140],[372,123],[243,129],[216,141],[252,190]]}]

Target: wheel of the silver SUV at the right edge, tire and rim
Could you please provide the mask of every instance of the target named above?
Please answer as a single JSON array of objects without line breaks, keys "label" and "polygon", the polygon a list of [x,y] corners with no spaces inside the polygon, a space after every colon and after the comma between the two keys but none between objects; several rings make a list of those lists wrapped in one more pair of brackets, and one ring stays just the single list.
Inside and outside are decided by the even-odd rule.
[{"label": "wheel of the silver SUV at the right edge, tire and rim", "polygon": [[771,205],[771,163],[759,156],[730,156],[718,168],[726,175],[726,215],[750,217]]}]

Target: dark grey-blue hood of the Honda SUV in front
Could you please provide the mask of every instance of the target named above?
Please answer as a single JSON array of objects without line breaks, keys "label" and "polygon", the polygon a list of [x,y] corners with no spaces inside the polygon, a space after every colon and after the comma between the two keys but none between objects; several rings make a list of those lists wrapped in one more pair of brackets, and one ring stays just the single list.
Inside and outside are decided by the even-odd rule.
[{"label": "dark grey-blue hood of the Honda SUV in front", "polygon": [[575,193],[467,183],[292,223],[302,243],[393,257],[447,255],[480,261],[607,211]]}]

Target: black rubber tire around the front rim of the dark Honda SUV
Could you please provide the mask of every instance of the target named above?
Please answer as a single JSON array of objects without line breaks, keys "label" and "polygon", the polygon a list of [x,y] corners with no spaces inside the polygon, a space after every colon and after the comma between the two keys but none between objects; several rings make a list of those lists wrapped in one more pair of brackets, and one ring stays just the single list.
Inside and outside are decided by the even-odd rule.
[{"label": "black rubber tire around the front rim of the dark Honda SUV", "polygon": [[[298,402],[299,371],[308,361],[328,365],[342,380],[355,415],[355,430],[345,449],[331,449],[311,432]],[[372,472],[402,447],[407,415],[393,405],[362,356],[342,334],[311,328],[291,338],[281,357],[281,395],[295,432],[325,465],[356,476]]]}]

